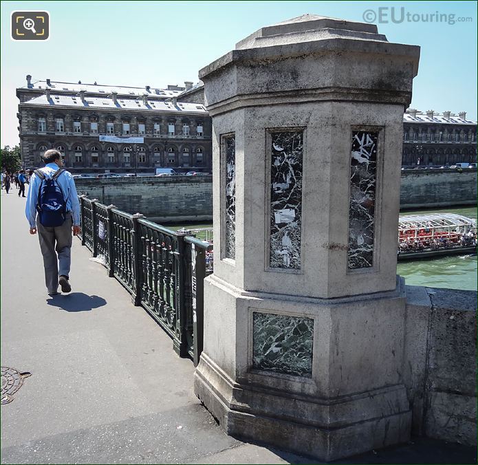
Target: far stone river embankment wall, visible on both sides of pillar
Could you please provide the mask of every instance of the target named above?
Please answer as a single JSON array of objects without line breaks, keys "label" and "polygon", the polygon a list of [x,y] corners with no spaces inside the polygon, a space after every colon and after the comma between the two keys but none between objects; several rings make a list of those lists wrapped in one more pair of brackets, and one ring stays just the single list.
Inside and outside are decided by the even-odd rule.
[{"label": "far stone river embankment wall, visible on both sides of pillar", "polygon": [[[78,193],[155,221],[213,221],[213,176],[76,179]],[[402,171],[400,208],[473,205],[477,171]]]}]

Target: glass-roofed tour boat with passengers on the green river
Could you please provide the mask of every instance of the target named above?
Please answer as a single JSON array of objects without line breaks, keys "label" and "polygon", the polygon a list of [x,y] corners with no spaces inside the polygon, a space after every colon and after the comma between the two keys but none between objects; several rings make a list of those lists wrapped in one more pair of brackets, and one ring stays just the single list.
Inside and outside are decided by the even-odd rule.
[{"label": "glass-roofed tour boat with passengers on the green river", "polygon": [[398,259],[476,253],[477,220],[455,213],[400,217]]}]

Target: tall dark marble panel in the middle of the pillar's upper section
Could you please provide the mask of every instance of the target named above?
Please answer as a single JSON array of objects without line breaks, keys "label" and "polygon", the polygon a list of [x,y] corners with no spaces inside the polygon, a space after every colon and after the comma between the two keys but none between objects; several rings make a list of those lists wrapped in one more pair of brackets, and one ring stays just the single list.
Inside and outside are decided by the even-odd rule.
[{"label": "tall dark marble panel in the middle of the pillar's upper section", "polygon": [[271,136],[269,265],[300,270],[303,131]]}]

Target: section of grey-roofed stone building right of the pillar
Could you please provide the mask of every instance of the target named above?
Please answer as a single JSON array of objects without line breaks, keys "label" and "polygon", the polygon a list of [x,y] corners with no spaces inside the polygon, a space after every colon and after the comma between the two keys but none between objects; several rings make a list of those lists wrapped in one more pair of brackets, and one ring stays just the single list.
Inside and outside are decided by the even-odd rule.
[{"label": "section of grey-roofed stone building right of the pillar", "polygon": [[477,161],[477,123],[433,110],[407,109],[403,118],[402,166],[446,166]]}]

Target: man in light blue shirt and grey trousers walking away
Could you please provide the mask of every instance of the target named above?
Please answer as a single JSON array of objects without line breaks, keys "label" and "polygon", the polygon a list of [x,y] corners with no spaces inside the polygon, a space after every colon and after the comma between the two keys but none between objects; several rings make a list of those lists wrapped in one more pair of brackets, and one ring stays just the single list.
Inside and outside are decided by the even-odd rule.
[{"label": "man in light blue shirt and grey trousers walking away", "polygon": [[[48,294],[54,296],[58,294],[58,283],[61,285],[62,292],[70,292],[72,290],[69,284],[72,229],[75,236],[80,232],[80,202],[78,201],[78,194],[76,193],[76,186],[72,175],[68,171],[61,169],[61,166],[63,166],[61,153],[55,149],[47,150],[45,155],[43,155],[43,160],[46,166],[34,171],[30,179],[25,214],[30,223],[30,234],[34,235],[37,231],[39,233],[43,266],[45,268],[45,284]],[[57,173],[60,169],[61,171]],[[43,211],[43,202],[48,201],[45,197],[52,190],[50,188],[50,191],[47,191],[42,186],[43,183],[50,182],[50,180],[53,180],[61,190],[61,195],[63,195],[65,202],[64,221],[61,218],[63,222],[60,226],[45,226],[49,221],[45,220],[46,215]],[[39,199],[39,193],[41,193],[43,198]],[[39,202],[42,202],[41,207]],[[55,202],[52,204],[55,205]],[[58,206],[58,202],[56,202],[56,206]],[[37,210],[39,213],[38,217],[36,216]],[[55,214],[56,212],[53,213],[53,215]]]}]

